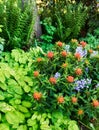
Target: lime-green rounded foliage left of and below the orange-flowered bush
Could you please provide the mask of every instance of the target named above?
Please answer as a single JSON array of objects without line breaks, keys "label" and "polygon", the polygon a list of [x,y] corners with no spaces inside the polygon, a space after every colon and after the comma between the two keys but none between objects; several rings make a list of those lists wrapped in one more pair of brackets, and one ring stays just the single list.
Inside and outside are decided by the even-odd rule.
[{"label": "lime-green rounded foliage left of and below the orange-flowered bush", "polygon": [[61,111],[35,110],[32,97],[35,90],[34,57],[44,54],[40,47],[26,53],[20,49],[12,50],[11,54],[3,53],[0,62],[0,130],[78,130],[77,123],[70,122]]}]

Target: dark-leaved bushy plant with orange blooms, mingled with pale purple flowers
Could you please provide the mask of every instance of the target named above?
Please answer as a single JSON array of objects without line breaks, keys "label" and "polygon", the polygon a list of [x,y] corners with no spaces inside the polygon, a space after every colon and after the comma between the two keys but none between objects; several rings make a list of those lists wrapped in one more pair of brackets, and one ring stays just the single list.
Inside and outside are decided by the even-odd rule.
[{"label": "dark-leaved bushy plant with orange blooms, mingled with pale purple flowers", "polygon": [[35,57],[31,91],[35,108],[62,109],[76,120],[96,119],[99,49],[90,50],[86,42],[72,39],[69,45],[59,41],[52,51]]}]

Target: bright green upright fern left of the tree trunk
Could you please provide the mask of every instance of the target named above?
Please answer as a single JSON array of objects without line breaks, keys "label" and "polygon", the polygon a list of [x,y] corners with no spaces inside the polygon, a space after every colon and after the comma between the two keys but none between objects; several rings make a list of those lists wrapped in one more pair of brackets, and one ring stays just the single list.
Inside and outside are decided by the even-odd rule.
[{"label": "bright green upright fern left of the tree trunk", "polygon": [[5,50],[23,48],[29,44],[35,22],[33,7],[34,2],[30,0],[24,3],[24,8],[22,8],[20,0],[0,2],[0,24],[4,26],[1,36],[6,41]]}]

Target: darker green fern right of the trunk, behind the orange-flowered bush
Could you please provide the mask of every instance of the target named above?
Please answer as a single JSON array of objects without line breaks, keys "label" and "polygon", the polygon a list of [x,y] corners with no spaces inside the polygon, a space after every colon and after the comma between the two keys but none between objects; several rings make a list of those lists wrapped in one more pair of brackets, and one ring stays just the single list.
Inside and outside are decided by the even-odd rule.
[{"label": "darker green fern right of the trunk, behind the orange-flowered bush", "polygon": [[55,23],[58,39],[66,41],[77,37],[85,24],[87,8],[82,3],[67,3],[62,9],[58,9],[58,6],[56,8]]}]

